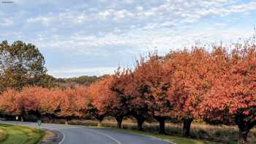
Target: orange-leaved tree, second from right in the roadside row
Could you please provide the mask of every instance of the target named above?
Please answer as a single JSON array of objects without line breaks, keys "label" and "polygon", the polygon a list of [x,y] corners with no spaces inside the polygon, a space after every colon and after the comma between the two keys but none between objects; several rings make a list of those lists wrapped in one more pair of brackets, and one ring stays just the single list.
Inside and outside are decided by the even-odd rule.
[{"label": "orange-leaved tree, second from right in the roadside row", "polygon": [[167,55],[173,69],[168,89],[170,102],[175,104],[173,116],[183,121],[183,134],[189,136],[190,125],[197,117],[199,104],[210,88],[208,83],[209,54],[202,48],[182,50]]}]

